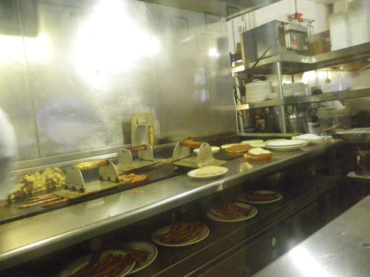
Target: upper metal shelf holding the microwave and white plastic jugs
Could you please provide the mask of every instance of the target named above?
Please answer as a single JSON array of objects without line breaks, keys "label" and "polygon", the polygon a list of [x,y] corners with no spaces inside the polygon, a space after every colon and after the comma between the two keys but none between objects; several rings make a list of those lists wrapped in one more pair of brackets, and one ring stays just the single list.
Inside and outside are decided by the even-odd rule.
[{"label": "upper metal shelf holding the microwave and white plastic jugs", "polygon": [[276,62],[280,61],[281,73],[291,75],[365,58],[370,58],[370,42],[314,56],[279,53],[261,59],[255,67],[256,62],[252,61],[232,68],[231,72],[277,74]]}]

